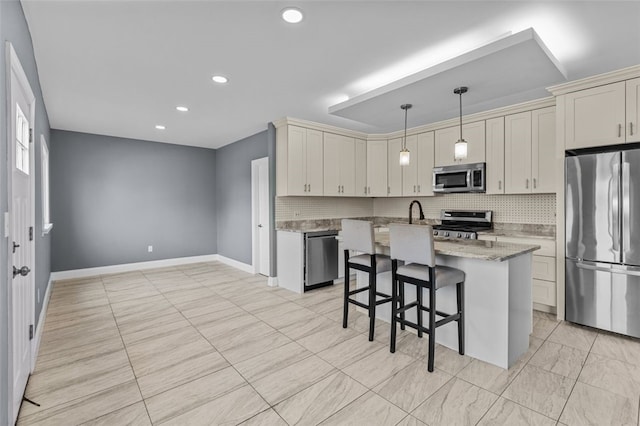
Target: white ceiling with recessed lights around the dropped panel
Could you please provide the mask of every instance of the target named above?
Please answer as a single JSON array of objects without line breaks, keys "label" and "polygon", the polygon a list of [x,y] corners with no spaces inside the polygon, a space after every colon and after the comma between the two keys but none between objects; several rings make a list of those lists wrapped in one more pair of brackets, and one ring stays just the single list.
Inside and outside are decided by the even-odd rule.
[{"label": "white ceiling with recessed lights around the dropped panel", "polygon": [[[397,115],[384,123],[328,112],[348,98],[530,27],[568,80],[640,64],[638,1],[22,4],[52,128],[209,148],[260,132],[284,116],[369,133],[401,129],[399,105],[405,102],[414,104],[410,127],[455,117],[458,98],[452,90],[460,85],[470,86],[465,112],[500,106],[492,100],[521,91],[517,78],[487,85],[475,96],[468,82],[445,80],[442,85],[451,87],[429,99],[381,97],[378,111]],[[304,11],[302,23],[280,19],[291,5]],[[513,65],[496,61],[495,69]],[[213,83],[214,74],[229,83]],[[541,89],[529,88],[520,98],[540,97]],[[421,102],[428,102],[422,112]],[[176,105],[190,111],[180,113]],[[156,130],[156,124],[167,128]]]}]

